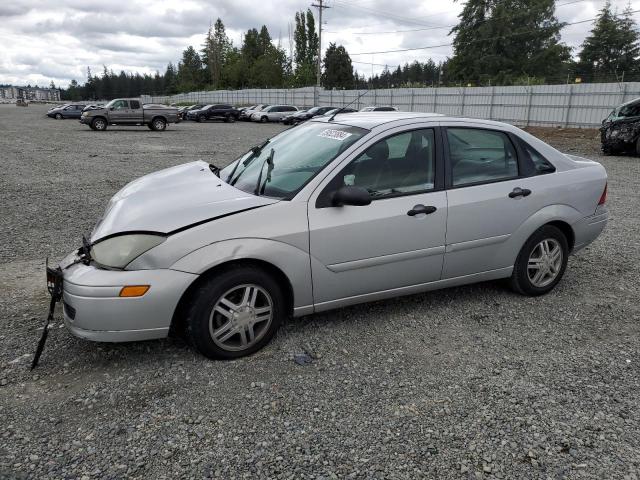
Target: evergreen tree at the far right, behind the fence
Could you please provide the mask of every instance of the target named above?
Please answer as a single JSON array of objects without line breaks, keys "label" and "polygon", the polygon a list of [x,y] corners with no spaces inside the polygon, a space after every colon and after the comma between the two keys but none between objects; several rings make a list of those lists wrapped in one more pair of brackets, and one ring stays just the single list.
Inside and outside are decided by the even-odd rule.
[{"label": "evergreen tree at the far right, behind the fence", "polygon": [[638,40],[631,9],[627,7],[619,17],[611,11],[611,3],[607,1],[582,44],[578,74],[597,78],[637,72]]}]

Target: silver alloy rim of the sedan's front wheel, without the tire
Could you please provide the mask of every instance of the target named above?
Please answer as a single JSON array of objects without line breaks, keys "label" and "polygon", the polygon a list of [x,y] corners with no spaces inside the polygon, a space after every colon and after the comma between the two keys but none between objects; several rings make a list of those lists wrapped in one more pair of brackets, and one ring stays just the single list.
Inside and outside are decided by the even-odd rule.
[{"label": "silver alloy rim of the sedan's front wheel, without the tire", "polygon": [[273,320],[273,300],[255,284],[227,290],[209,315],[209,334],[227,351],[246,350],[267,333]]}]

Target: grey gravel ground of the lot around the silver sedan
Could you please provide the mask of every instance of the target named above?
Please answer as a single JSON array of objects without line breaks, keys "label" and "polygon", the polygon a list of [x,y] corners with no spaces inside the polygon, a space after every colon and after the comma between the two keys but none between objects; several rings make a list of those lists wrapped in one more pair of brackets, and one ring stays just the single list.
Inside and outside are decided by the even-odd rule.
[{"label": "grey gravel ground of the lot around the silver sedan", "polygon": [[606,166],[612,212],[543,298],[494,282],[345,308],[234,362],[81,341],[57,317],[30,372],[46,256],[131,179],[282,128],[97,133],[44,110],[0,105],[0,478],[640,477],[640,161],[601,157],[595,131],[534,130]]}]

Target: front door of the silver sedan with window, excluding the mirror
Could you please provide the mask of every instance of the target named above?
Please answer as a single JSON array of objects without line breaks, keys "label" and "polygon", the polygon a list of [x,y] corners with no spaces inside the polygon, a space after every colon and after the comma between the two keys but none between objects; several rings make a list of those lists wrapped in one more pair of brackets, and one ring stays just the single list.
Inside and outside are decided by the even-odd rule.
[{"label": "front door of the silver sedan with window, excluding the mirror", "polygon": [[[406,127],[404,127],[406,129]],[[436,175],[433,128],[381,135],[363,147],[309,202],[314,303],[356,303],[440,279],[447,196]],[[366,188],[367,206],[333,206],[344,185]],[[354,298],[355,297],[355,298]]]}]

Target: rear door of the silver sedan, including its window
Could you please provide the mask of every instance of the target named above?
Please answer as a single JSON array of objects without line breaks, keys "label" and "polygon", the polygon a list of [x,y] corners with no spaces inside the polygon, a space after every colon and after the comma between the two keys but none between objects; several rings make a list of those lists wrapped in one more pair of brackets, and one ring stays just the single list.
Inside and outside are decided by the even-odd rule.
[{"label": "rear door of the silver sedan, including its window", "polygon": [[443,142],[449,212],[442,278],[512,266],[506,242],[544,205],[517,138],[498,129],[449,125]]}]

